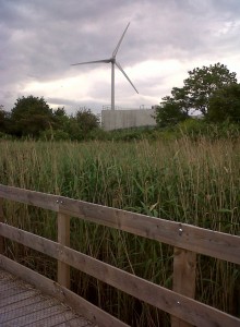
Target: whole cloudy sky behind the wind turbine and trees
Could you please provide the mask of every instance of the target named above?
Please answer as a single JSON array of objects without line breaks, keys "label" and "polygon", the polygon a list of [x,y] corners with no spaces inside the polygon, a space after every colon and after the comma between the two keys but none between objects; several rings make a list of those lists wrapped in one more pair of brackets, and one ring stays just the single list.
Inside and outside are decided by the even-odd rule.
[{"label": "whole cloudy sky behind the wind turbine and trees", "polygon": [[151,108],[194,68],[220,62],[240,81],[239,0],[0,0],[0,105],[44,97],[67,112],[110,105],[108,59],[117,61],[116,106]]}]

